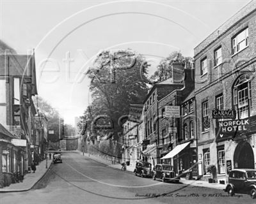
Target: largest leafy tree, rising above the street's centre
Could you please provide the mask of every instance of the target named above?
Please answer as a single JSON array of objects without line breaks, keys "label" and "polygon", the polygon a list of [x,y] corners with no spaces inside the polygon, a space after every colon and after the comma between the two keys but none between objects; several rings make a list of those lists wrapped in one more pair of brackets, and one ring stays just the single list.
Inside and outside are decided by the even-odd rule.
[{"label": "largest leafy tree, rising above the street's centre", "polygon": [[[86,120],[87,130],[90,131],[93,139],[97,135],[106,138],[109,132],[113,132],[114,134],[109,136],[119,141],[117,133],[122,132],[122,127],[118,125],[118,119],[128,114],[131,103],[141,104],[148,91],[147,84],[143,80],[147,69],[141,71],[144,64],[143,56],[131,50],[119,50],[114,53],[104,51],[97,56],[93,67],[87,73],[91,80],[92,104],[81,117],[81,120]],[[107,116],[106,124],[109,120],[113,122],[113,128],[102,128],[101,134],[99,131],[96,133],[92,128],[92,122],[95,122],[100,115]],[[119,145],[117,147],[120,148]],[[120,154],[120,151],[116,150],[114,153]]]}]

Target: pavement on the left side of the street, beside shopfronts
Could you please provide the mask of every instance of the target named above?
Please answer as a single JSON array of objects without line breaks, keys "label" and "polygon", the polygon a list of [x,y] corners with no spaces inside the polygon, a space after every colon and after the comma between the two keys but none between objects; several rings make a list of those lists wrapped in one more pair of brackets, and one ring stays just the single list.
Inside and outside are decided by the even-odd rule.
[{"label": "pavement on the left side of the street, beside shopfronts", "polygon": [[17,184],[11,184],[10,186],[3,187],[0,189],[0,193],[8,193],[8,192],[19,192],[19,191],[29,191],[35,184],[44,177],[47,170],[51,166],[52,160],[47,161],[47,168],[45,168],[46,160],[42,161],[40,164],[36,166],[35,173],[27,173],[24,176],[23,182],[19,182]]}]

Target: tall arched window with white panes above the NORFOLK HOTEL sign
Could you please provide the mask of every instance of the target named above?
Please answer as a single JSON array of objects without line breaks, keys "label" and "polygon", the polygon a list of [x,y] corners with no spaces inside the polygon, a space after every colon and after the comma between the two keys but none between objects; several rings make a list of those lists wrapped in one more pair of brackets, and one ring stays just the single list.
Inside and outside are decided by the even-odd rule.
[{"label": "tall arched window with white panes above the NORFOLK HOTEL sign", "polygon": [[252,110],[252,89],[251,80],[248,75],[241,75],[234,83],[233,105],[236,110],[237,119],[244,119],[250,116]]}]

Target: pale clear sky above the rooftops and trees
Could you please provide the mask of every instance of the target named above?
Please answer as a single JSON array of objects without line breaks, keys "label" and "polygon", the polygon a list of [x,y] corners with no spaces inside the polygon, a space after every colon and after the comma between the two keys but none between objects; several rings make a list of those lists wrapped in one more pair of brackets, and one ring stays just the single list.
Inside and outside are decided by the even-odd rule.
[{"label": "pale clear sky above the rooftops and trees", "polygon": [[130,48],[152,64],[193,49],[250,1],[0,0],[0,39],[35,50],[38,96],[73,124],[90,105],[86,70],[102,50]]}]

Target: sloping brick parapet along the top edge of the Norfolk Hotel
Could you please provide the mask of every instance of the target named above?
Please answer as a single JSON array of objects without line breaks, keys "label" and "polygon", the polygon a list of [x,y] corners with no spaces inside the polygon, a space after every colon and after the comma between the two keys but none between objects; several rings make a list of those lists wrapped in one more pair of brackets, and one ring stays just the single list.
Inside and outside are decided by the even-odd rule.
[{"label": "sloping brick parapet along the top edge of the Norfolk Hotel", "polygon": [[220,25],[220,27],[218,27],[218,29],[211,33],[207,38],[205,38],[204,41],[202,41],[198,46],[195,47],[194,55],[199,54],[213,41],[220,38],[220,36],[226,33],[230,28],[232,28],[237,22],[242,20],[244,17],[250,15],[254,11],[256,11],[256,0],[250,1],[250,3],[246,4],[246,6],[244,6],[235,15],[229,18],[224,24]]}]

